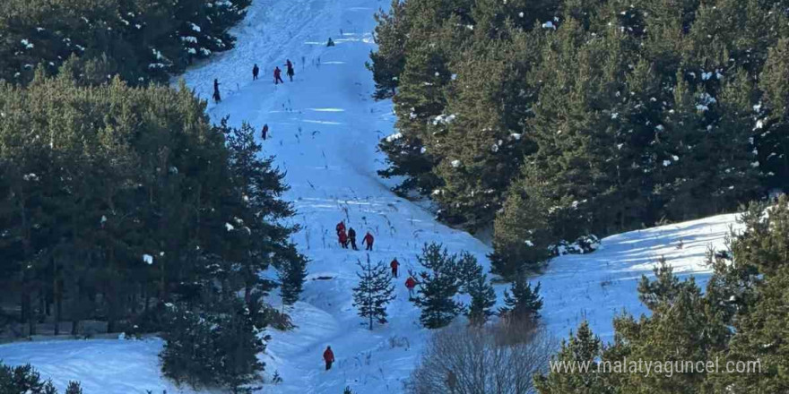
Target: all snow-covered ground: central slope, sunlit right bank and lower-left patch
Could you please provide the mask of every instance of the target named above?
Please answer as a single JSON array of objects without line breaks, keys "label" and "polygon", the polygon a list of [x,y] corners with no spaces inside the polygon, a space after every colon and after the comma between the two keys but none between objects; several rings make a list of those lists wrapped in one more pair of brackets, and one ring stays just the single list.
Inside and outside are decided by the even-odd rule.
[{"label": "all snow-covered ground: central slope, sunlit right bank and lower-left patch", "polygon": [[[290,310],[298,326],[272,332],[266,371],[283,382],[267,386],[274,393],[402,392],[403,381],[418,360],[427,330],[419,311],[407,301],[404,278],[397,279],[397,299],[390,304],[390,324],[368,331],[351,304],[357,260],[366,253],[343,250],[334,225],[344,219],[359,239],[376,236],[373,261],[397,257],[403,272],[417,268],[415,255],[425,242],[437,241],[452,252],[467,250],[487,267],[490,248],[463,232],[438,224],[420,206],[391,193],[392,185],[376,171],[384,166],[377,141],[392,133],[391,102],[370,99],[373,82],[364,63],[374,49],[373,13],[384,0],[255,0],[247,19],[235,29],[238,47],[185,75],[188,86],[209,99],[212,80],[221,82],[223,101],[211,104],[212,119],[230,116],[231,124],[270,127],[268,154],[287,171],[286,199],[298,210],[303,230],[295,236],[311,259],[302,300]],[[332,37],[336,47],[325,47]],[[296,65],[291,83],[274,86],[275,65]],[[253,64],[261,77],[252,81]],[[283,73],[284,74],[284,73]],[[704,253],[721,248],[733,215],[656,227],[611,236],[602,250],[563,256],[534,281],[542,282],[544,321],[565,337],[588,319],[603,338],[611,338],[611,318],[625,308],[641,313],[636,286],[665,256],[682,275],[708,275]],[[677,248],[680,239],[684,247]],[[499,295],[503,287],[498,288]],[[337,358],[325,372],[321,355],[331,345]],[[178,392],[160,378],[160,340],[56,341],[0,346],[8,364],[34,364],[63,389],[82,381],[86,394]],[[183,392],[191,392],[185,390]]]}]

